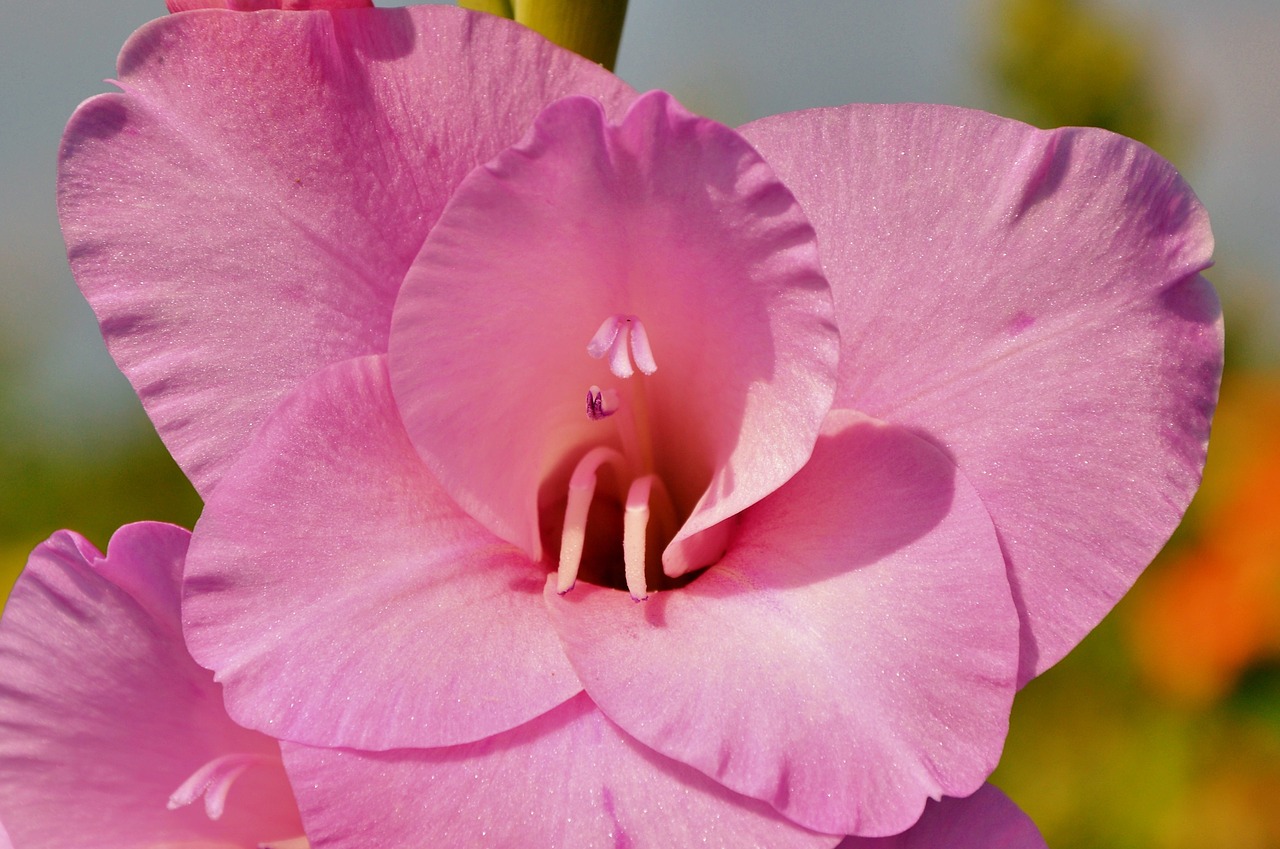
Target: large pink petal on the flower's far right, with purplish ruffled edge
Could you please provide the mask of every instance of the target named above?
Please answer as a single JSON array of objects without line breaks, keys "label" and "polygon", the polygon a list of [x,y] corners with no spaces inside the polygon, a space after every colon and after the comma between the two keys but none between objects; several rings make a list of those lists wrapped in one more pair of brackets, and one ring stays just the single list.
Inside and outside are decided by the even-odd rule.
[{"label": "large pink petal on the flower's far right, with purplish ruffled edge", "polygon": [[991,511],[1025,681],[1111,608],[1198,485],[1222,362],[1204,210],[1103,131],[849,106],[742,133],[818,229],[837,405],[943,446]]}]

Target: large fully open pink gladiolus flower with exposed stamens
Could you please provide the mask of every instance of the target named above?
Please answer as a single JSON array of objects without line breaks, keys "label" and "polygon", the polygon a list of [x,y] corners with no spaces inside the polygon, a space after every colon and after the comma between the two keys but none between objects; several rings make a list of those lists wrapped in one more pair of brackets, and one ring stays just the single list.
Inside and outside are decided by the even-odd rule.
[{"label": "large fully open pink gladiolus flower with exposed stamens", "polygon": [[72,264],[317,845],[901,832],[1198,481],[1211,236],[1128,140],[732,131],[444,8],[177,15],[119,85]]}]

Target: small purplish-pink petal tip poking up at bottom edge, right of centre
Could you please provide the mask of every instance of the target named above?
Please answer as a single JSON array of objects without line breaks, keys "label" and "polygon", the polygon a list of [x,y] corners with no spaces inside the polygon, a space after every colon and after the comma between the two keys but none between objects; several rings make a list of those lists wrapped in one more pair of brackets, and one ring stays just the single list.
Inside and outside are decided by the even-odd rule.
[{"label": "small purplish-pink petal tip poking up at bottom edge, right of centre", "polygon": [[1047,849],[1030,817],[995,785],[968,799],[931,802],[924,816],[893,837],[849,837],[837,849]]}]

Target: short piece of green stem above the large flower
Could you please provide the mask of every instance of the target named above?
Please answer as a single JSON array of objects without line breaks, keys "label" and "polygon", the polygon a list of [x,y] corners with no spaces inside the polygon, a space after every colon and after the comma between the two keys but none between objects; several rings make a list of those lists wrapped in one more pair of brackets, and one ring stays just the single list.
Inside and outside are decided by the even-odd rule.
[{"label": "short piece of green stem above the large flower", "polygon": [[458,0],[463,9],[511,18],[613,70],[627,0]]}]

